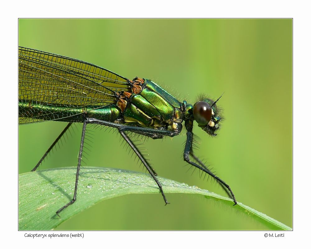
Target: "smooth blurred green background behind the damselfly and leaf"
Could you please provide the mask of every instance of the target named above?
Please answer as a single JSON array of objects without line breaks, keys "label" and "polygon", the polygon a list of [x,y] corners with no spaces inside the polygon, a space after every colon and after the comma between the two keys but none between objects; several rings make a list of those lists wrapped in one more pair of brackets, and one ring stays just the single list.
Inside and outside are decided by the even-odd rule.
[{"label": "smooth blurred green background behind the damselfly and leaf", "polygon": [[[199,127],[197,155],[214,167],[237,201],[292,227],[291,19],[20,19],[19,45],[81,59],[129,79],[150,78],[179,100],[218,98],[225,121],[216,138]],[[19,172],[30,171],[65,127],[19,126]],[[81,124],[40,169],[77,165]],[[120,136],[95,130],[87,166],[145,170],[128,159]],[[156,172],[220,195],[224,190],[183,161],[185,133],[144,145]],[[269,229],[204,197],[126,195],[65,221],[60,230]],[[79,198],[79,197],[78,197]]]}]

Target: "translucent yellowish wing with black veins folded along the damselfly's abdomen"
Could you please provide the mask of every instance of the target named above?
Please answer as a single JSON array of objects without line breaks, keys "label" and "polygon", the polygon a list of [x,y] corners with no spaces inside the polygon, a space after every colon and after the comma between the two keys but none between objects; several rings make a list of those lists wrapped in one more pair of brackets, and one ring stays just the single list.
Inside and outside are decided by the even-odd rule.
[{"label": "translucent yellowish wing with black veins folded along the damselfly's abdomen", "polygon": [[[66,115],[63,110],[77,106],[96,109],[115,103],[117,92],[130,90],[127,78],[57,54],[19,47],[18,63],[19,100],[62,106],[62,111],[55,111],[54,116]],[[22,108],[19,111],[23,112]],[[23,114],[20,124],[42,121]]]}]

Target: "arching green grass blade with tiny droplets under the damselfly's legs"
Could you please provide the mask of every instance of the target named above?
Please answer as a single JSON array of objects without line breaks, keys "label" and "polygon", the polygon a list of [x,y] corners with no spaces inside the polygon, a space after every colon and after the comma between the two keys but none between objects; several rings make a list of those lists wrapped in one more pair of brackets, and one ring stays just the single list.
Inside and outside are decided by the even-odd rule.
[{"label": "arching green grass blade with tiny droplets under the damselfly's legs", "polygon": [[[84,167],[80,172],[77,201],[56,215],[56,211],[72,200],[76,167],[28,172],[19,176],[19,230],[51,230],[60,223],[102,200],[127,194],[159,193],[153,179],[143,173],[113,168]],[[204,195],[214,201],[233,205],[227,197],[196,186],[158,177],[165,193]],[[242,203],[232,207],[267,225],[271,229],[290,227]]]}]

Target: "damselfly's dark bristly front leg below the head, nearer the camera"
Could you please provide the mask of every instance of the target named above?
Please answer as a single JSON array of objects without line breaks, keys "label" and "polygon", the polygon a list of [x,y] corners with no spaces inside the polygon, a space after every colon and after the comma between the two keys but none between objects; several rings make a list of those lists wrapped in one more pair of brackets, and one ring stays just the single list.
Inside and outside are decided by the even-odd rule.
[{"label": "damselfly's dark bristly front leg below the head, nearer the camera", "polygon": [[[218,176],[215,176],[211,171],[209,171],[204,164],[193,155],[192,152],[192,140],[193,140],[193,133],[192,133],[192,122],[187,122],[186,123],[186,129],[187,129],[187,141],[186,141],[186,145],[185,145],[185,150],[183,153],[183,160],[188,162],[190,165],[199,168],[200,170],[206,172],[207,174],[209,174],[210,176],[214,177],[216,179],[216,181],[218,181],[221,185],[225,186],[225,188],[228,189],[228,191],[230,192],[232,199],[234,201],[234,205],[237,204],[234,194],[232,192],[232,190],[230,189],[230,186],[228,184],[226,184],[223,180],[221,180]],[[195,158],[195,160],[197,160],[199,162],[200,165],[196,164],[195,162],[192,162],[189,158],[189,155],[193,156]],[[203,165],[202,165],[203,164]]]}]

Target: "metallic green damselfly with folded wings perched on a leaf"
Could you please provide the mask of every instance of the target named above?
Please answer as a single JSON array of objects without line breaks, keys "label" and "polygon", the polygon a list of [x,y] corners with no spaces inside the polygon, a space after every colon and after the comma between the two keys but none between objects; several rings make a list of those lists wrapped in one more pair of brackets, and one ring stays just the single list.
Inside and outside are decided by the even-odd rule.
[{"label": "metallic green damselfly with folded wings perched on a leaf", "polygon": [[[77,199],[77,188],[87,124],[116,128],[136,153],[159,186],[168,204],[156,172],[132,142],[127,132],[152,139],[174,137],[187,130],[184,161],[199,168],[219,182],[237,204],[229,185],[213,174],[193,153],[193,122],[207,134],[216,136],[221,116],[216,101],[202,98],[194,105],[178,101],[155,82],[129,80],[107,69],[77,59],[19,47],[19,124],[47,120],[68,122],[47,152],[32,169],[35,171],[72,123],[83,123],[75,190],[72,200],[57,210],[59,214]],[[190,160],[190,156],[195,162]]]}]

